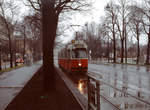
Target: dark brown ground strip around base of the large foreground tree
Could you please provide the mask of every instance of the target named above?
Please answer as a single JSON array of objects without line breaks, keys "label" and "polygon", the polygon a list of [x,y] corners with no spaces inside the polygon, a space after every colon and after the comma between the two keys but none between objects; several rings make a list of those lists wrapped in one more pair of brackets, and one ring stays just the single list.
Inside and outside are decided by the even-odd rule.
[{"label": "dark brown ground strip around base of the large foreground tree", "polygon": [[5,110],[82,110],[61,76],[55,74],[56,88],[44,94],[42,69],[24,86]]}]

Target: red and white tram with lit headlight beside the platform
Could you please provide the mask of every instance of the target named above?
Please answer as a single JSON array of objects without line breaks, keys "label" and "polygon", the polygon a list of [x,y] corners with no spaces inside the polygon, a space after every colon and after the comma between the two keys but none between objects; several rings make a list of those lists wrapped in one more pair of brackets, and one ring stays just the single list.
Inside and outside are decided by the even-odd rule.
[{"label": "red and white tram with lit headlight beside the platform", "polygon": [[69,73],[86,73],[88,70],[87,45],[83,40],[72,40],[58,53],[59,67]]}]

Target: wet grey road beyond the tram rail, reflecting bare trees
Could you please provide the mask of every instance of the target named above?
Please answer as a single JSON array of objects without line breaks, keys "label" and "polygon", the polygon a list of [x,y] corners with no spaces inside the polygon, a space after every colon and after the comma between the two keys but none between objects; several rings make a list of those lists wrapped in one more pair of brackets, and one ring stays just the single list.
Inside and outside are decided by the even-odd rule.
[{"label": "wet grey road beyond the tram rail, reflecting bare trees", "polygon": [[150,98],[150,67],[107,64],[89,64],[89,72],[102,75],[103,80],[114,87],[126,88],[128,92],[139,92]]}]

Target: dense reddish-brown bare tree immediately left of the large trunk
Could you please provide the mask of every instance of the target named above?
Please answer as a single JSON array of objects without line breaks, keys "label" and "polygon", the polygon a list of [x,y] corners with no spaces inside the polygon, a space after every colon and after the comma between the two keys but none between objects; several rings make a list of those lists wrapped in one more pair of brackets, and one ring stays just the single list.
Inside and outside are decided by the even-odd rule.
[{"label": "dense reddish-brown bare tree immediately left of the large trunk", "polygon": [[25,16],[24,23],[26,27],[26,38],[32,41],[31,50],[33,51],[33,60],[37,61],[42,52],[42,24],[40,13]]}]

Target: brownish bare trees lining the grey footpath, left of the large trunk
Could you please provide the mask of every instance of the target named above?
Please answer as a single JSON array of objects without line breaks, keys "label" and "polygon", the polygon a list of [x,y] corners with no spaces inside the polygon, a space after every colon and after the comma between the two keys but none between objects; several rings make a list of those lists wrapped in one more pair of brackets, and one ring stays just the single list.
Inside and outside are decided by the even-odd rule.
[{"label": "brownish bare trees lining the grey footpath, left of the large trunk", "polygon": [[[38,60],[42,52],[41,21],[38,12],[19,18],[19,6],[14,0],[0,1],[0,70],[2,61],[15,66],[16,54],[21,54],[25,60],[26,47],[33,52],[33,60]],[[21,46],[17,45],[18,37]]]}]

